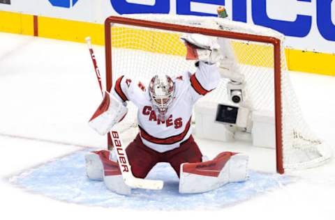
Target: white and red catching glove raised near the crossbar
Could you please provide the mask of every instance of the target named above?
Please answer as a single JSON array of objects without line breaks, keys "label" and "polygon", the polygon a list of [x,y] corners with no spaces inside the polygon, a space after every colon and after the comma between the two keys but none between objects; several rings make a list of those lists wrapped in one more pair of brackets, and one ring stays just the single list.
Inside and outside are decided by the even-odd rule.
[{"label": "white and red catching glove raised near the crossbar", "polygon": [[217,63],[220,58],[220,45],[217,38],[191,33],[180,38],[187,47],[187,60],[198,60],[209,64]]}]

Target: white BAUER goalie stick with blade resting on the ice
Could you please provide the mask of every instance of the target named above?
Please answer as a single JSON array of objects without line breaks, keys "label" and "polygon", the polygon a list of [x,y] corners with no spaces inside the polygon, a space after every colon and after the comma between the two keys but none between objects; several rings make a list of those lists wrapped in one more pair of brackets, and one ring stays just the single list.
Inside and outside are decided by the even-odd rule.
[{"label": "white BAUER goalie stick with blade resting on the ice", "polygon": [[[96,63],[96,56],[94,54],[94,50],[91,45],[91,38],[87,37],[85,38],[85,40],[87,42],[87,46],[89,47],[89,53],[91,54],[94,70],[96,71],[96,77],[98,79],[98,84],[101,89],[101,94],[103,94],[101,75],[98,69],[98,65]],[[133,173],[131,172],[131,165],[128,162],[128,157],[126,155],[126,150],[124,149],[120,133],[116,129],[113,129],[110,132],[110,136],[112,138],[112,143],[115,148],[115,152],[117,153],[117,161],[119,162],[118,164],[121,170],[122,178],[124,179],[124,183],[131,188],[154,189],[154,190],[163,189],[164,183],[162,180],[144,180],[141,178],[135,178]]]}]

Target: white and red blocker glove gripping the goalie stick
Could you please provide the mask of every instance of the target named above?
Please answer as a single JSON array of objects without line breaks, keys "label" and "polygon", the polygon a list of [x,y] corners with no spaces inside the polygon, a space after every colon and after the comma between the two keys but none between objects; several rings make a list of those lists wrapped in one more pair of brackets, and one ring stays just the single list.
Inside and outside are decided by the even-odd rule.
[{"label": "white and red blocker glove gripping the goalie stick", "polygon": [[89,126],[96,130],[98,134],[105,135],[126,116],[127,112],[128,108],[106,91],[103,102],[89,120]]}]

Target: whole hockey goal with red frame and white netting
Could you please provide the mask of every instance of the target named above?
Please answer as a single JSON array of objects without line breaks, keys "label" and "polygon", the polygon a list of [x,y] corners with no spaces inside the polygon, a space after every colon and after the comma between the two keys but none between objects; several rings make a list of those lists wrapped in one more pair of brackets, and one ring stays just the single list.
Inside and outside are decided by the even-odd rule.
[{"label": "whole hockey goal with red frame and white netting", "polygon": [[[109,17],[105,22],[107,90],[123,74],[150,79],[154,74],[180,74],[195,70],[186,61],[186,47],[179,40],[185,33],[202,33],[229,39],[254,110],[269,111],[276,119],[276,166],[319,166],[332,157],[323,141],[308,128],[290,82],[281,33],[264,27],[217,17],[135,15]],[[221,82],[200,102],[230,102]],[[128,116],[118,129],[136,125],[137,109],[128,104]],[[121,127],[120,127],[121,126]]]}]

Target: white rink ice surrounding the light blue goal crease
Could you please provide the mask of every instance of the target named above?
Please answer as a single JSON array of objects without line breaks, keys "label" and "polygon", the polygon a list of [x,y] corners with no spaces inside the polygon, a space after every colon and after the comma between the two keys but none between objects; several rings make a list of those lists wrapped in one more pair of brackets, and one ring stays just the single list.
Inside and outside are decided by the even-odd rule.
[{"label": "white rink ice surrounding the light blue goal crease", "polygon": [[[103,72],[103,47],[95,49]],[[299,72],[291,72],[291,77],[308,124],[334,145],[335,77]],[[294,184],[215,212],[77,205],[31,194],[8,182],[14,175],[77,150],[105,148],[105,137],[87,126],[100,100],[86,45],[0,33],[1,219],[334,219],[334,162],[296,172],[299,180]],[[226,150],[223,143],[197,141],[209,156]]]}]

